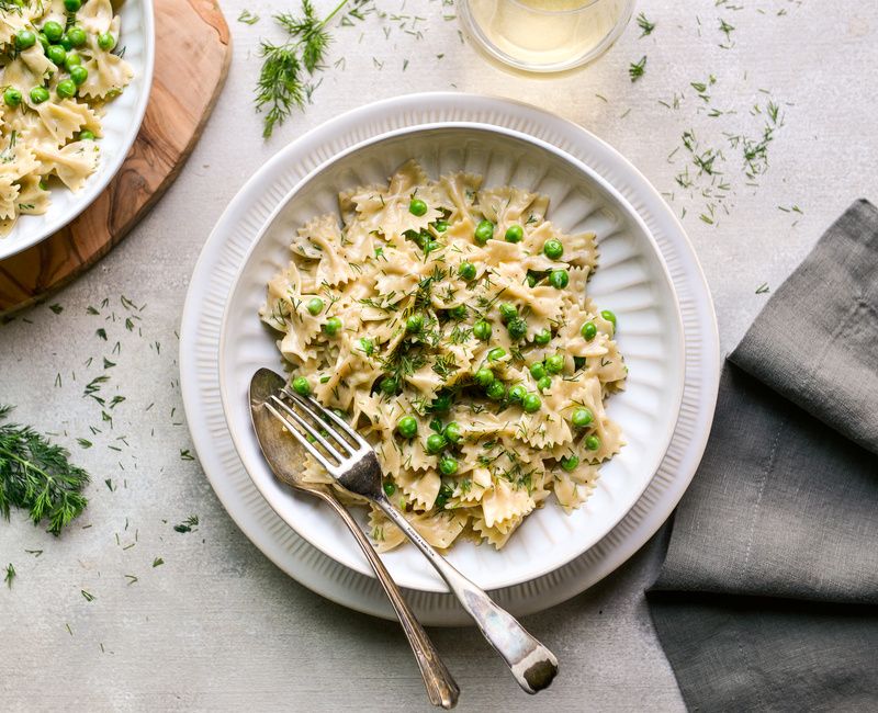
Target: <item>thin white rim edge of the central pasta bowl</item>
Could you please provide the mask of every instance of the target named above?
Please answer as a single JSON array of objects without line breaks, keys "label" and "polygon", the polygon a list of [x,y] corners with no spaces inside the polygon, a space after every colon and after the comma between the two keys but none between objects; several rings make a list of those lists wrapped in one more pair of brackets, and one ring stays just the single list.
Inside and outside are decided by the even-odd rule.
[{"label": "thin white rim edge of the central pasta bowl", "polygon": [[[224,417],[225,417],[225,420],[226,420],[226,426],[228,427],[228,432],[229,432],[229,435],[232,438],[232,442],[234,444],[235,451],[237,452],[238,456],[240,457],[241,464],[244,465],[244,469],[247,472],[247,475],[250,477],[250,479],[252,480],[252,483],[256,486],[257,490],[259,490],[260,495],[266,499],[266,502],[268,502],[269,507],[271,507],[271,509],[274,510],[274,512],[278,514],[278,517],[280,517],[281,520],[283,520],[286,523],[288,527],[290,527],[296,534],[302,536],[303,540],[305,540],[311,545],[316,547],[324,555],[326,555],[330,559],[337,562],[338,564],[340,564],[340,565],[342,565],[345,567],[348,567],[348,568],[350,568],[350,569],[352,569],[352,570],[354,570],[354,571],[357,571],[359,574],[365,575],[365,576],[371,577],[371,578],[375,578],[374,571],[372,571],[371,567],[368,565],[365,559],[360,559],[360,558],[353,556],[353,557],[348,558],[349,561],[341,561],[341,559],[338,558],[338,556],[336,556],[336,552],[335,551],[333,551],[333,550],[330,550],[330,548],[328,548],[326,546],[326,544],[324,543],[323,540],[314,537],[312,535],[312,533],[305,528],[297,528],[295,525],[295,523],[293,521],[291,521],[290,518],[284,516],[283,505],[278,502],[278,501],[275,501],[274,493],[272,490],[268,489],[268,488],[262,487],[262,484],[260,483],[259,478],[254,477],[252,468],[250,467],[251,460],[250,460],[250,456],[249,456],[249,451],[245,446],[245,443],[241,440],[243,439],[243,434],[239,433],[237,428],[233,428],[233,421],[230,419],[230,412],[232,412],[230,411],[230,409],[232,409],[230,401],[232,401],[232,399],[234,397],[233,397],[233,394],[232,394],[232,385],[228,383],[228,380],[225,376],[225,374],[226,374],[226,369],[225,369],[225,365],[226,365],[226,356],[225,356],[226,343],[227,343],[227,339],[229,339],[229,336],[228,336],[228,319],[229,319],[229,313],[232,312],[233,298],[234,298],[235,294],[238,291],[239,284],[241,282],[241,278],[244,275],[245,268],[249,263],[250,258],[252,257],[252,253],[256,251],[257,247],[264,239],[266,234],[270,230],[270,228],[272,227],[272,225],[277,220],[277,218],[280,215],[280,213],[284,210],[284,207],[288,206],[290,204],[290,202],[293,201],[295,199],[295,196],[302,190],[304,190],[304,188],[306,185],[308,185],[317,176],[319,176],[322,172],[327,170],[331,165],[338,162],[339,160],[348,158],[349,156],[351,156],[351,155],[353,155],[353,154],[356,154],[356,152],[358,152],[360,150],[363,150],[365,148],[369,148],[369,147],[371,147],[371,146],[373,146],[375,144],[381,144],[381,143],[384,143],[384,142],[387,142],[387,140],[392,140],[392,139],[395,139],[395,138],[398,138],[398,137],[408,136],[408,135],[413,135],[413,134],[423,134],[423,133],[426,133],[426,132],[434,132],[434,131],[441,131],[441,129],[471,129],[471,131],[484,132],[484,133],[489,133],[489,134],[499,134],[499,135],[503,135],[503,136],[506,136],[506,137],[509,137],[509,138],[513,138],[513,139],[521,140],[521,142],[524,142],[526,144],[533,145],[533,146],[536,146],[536,147],[538,147],[538,148],[540,148],[542,150],[549,151],[550,154],[554,154],[556,157],[559,157],[564,162],[566,162],[569,165],[572,165],[577,171],[586,174],[589,180],[592,180],[595,183],[599,184],[603,190],[605,190],[607,193],[609,193],[610,196],[614,199],[614,201],[616,201],[617,205],[623,210],[626,215],[630,219],[632,219],[638,225],[638,227],[643,233],[643,235],[646,236],[646,239],[650,242],[650,245],[652,246],[653,252],[654,252],[655,257],[658,260],[658,264],[661,265],[662,275],[664,278],[665,285],[671,291],[671,294],[674,296],[673,315],[674,315],[674,321],[675,321],[675,327],[676,327],[676,332],[675,332],[676,333],[675,354],[680,356],[680,359],[678,361],[679,361],[679,364],[680,364],[680,369],[683,370],[682,378],[678,381],[678,386],[675,389],[675,395],[674,395],[674,399],[673,399],[673,403],[674,403],[674,408],[673,408],[674,416],[673,416],[673,418],[665,419],[665,427],[664,427],[665,431],[662,434],[662,439],[661,439],[664,445],[661,449],[661,451],[658,452],[657,456],[654,459],[655,462],[654,463],[650,463],[649,469],[653,473],[653,475],[650,476],[650,478],[646,478],[644,480],[643,486],[641,488],[639,488],[637,490],[637,493],[632,491],[632,496],[630,498],[631,499],[631,506],[628,509],[626,509],[623,512],[618,513],[617,517],[612,519],[612,521],[608,521],[607,524],[604,528],[601,528],[600,533],[598,535],[596,535],[595,537],[593,537],[592,542],[589,542],[586,546],[583,546],[582,548],[578,548],[575,552],[573,552],[567,558],[563,559],[563,562],[552,563],[551,565],[548,565],[548,566],[544,566],[544,567],[541,567],[541,568],[534,568],[533,570],[529,571],[526,577],[496,578],[496,580],[491,580],[487,584],[476,582],[483,589],[495,590],[495,589],[503,589],[503,588],[506,588],[506,587],[513,587],[513,586],[520,585],[520,584],[524,584],[524,582],[527,582],[527,581],[531,581],[533,579],[538,579],[539,577],[542,577],[542,576],[553,571],[554,569],[558,569],[560,567],[565,566],[571,561],[575,559],[578,556],[582,556],[586,551],[588,551],[590,547],[593,547],[597,543],[599,543],[603,540],[603,537],[606,536],[606,534],[608,532],[610,532],[626,517],[626,514],[630,511],[631,507],[634,507],[634,505],[637,505],[637,502],[640,500],[640,497],[643,495],[645,489],[649,487],[649,484],[652,480],[652,477],[654,477],[655,472],[661,466],[661,463],[662,463],[665,454],[667,453],[667,449],[668,449],[668,446],[671,444],[671,440],[672,440],[672,437],[674,434],[674,429],[675,429],[675,426],[676,426],[676,422],[677,422],[677,418],[678,418],[678,415],[679,415],[680,405],[683,403],[683,393],[684,393],[685,383],[686,383],[686,363],[685,363],[685,359],[683,358],[683,355],[685,355],[685,353],[686,353],[686,351],[685,351],[686,350],[685,332],[684,332],[683,318],[682,318],[680,309],[679,309],[679,298],[677,296],[677,291],[676,291],[676,287],[674,286],[674,282],[673,282],[673,280],[671,278],[671,273],[668,271],[667,263],[666,263],[666,261],[664,259],[664,256],[662,254],[662,251],[661,251],[661,248],[658,247],[658,244],[655,240],[655,237],[652,235],[652,231],[649,229],[649,227],[646,226],[646,224],[643,220],[643,218],[641,218],[641,216],[638,214],[638,212],[634,210],[634,207],[630,204],[630,202],[611,183],[609,183],[609,181],[607,181],[604,177],[601,177],[599,173],[597,173],[597,171],[592,169],[585,162],[583,162],[582,160],[577,159],[574,156],[571,156],[566,151],[558,148],[556,146],[553,146],[552,144],[550,144],[550,143],[548,143],[545,140],[539,139],[539,138],[537,138],[534,136],[530,136],[529,134],[526,134],[524,132],[519,132],[519,131],[511,129],[511,128],[506,128],[504,126],[498,126],[498,125],[494,125],[494,124],[487,124],[487,123],[484,123],[484,122],[471,122],[471,121],[427,122],[427,123],[417,124],[417,125],[414,125],[414,126],[406,126],[406,127],[402,127],[402,128],[396,128],[396,129],[393,129],[393,131],[390,131],[390,132],[384,132],[384,133],[379,134],[376,136],[372,136],[370,138],[357,142],[353,145],[349,146],[348,148],[346,148],[346,149],[344,149],[341,151],[338,151],[336,154],[333,154],[326,160],[322,161],[319,165],[317,165],[311,171],[308,171],[297,183],[295,183],[295,185],[293,185],[283,195],[283,197],[281,197],[278,201],[278,203],[274,206],[274,208],[271,211],[271,213],[264,219],[263,225],[259,228],[259,230],[256,234],[255,238],[252,239],[251,244],[248,246],[247,250],[240,257],[240,263],[238,264],[237,270],[235,272],[235,276],[234,276],[234,279],[232,280],[232,282],[229,284],[228,298],[226,299],[226,303],[225,303],[225,305],[223,307],[223,317],[222,317],[221,325],[219,325],[219,343],[218,343],[218,349],[217,349],[217,351],[218,351],[218,354],[217,354],[217,371],[218,371],[218,374],[219,374],[219,376],[218,376],[219,396],[221,396],[221,401],[222,401],[222,407],[223,407],[223,414],[224,414]],[[307,138],[307,135],[305,137],[303,137],[303,139],[306,139],[306,138]],[[270,159],[270,160],[273,160],[273,159]],[[279,364],[281,364],[281,363],[282,362],[279,361]],[[266,467],[270,472],[270,468],[268,467],[268,465],[266,465]],[[282,494],[283,494],[282,497],[286,498],[286,499],[289,499],[289,498],[297,499],[297,498],[307,497],[307,496],[295,494],[292,490],[290,490],[289,488],[282,490]],[[350,551],[351,551],[351,553],[356,553],[357,552],[353,547],[350,547]],[[404,587],[406,589],[414,590],[414,591],[426,591],[426,592],[447,592],[447,591],[449,591],[449,589],[444,586],[444,582],[439,580],[439,579],[437,579],[435,581],[430,580],[429,585],[425,585],[425,582],[423,582],[423,581],[413,582],[412,580],[407,580],[405,577],[399,577],[399,576],[396,576],[396,580],[397,580],[396,584],[398,586]]]}]

